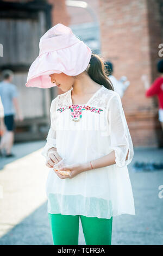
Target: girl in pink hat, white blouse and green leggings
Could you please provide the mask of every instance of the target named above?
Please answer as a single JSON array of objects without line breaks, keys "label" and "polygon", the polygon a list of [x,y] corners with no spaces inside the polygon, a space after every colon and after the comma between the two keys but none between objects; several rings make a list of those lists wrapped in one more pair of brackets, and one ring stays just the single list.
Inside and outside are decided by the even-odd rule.
[{"label": "girl in pink hat, white blouse and green leggings", "polygon": [[[86,245],[111,245],[112,217],[135,215],[127,168],[134,151],[121,99],[105,74],[102,58],[70,28],[59,23],[44,35],[47,38],[53,38],[49,46],[55,54],[49,57],[45,51],[40,57],[57,59],[55,69],[48,67],[34,76],[35,65],[38,69],[43,61],[37,59],[26,86],[55,84],[64,92],[51,103],[51,127],[42,150],[51,168],[46,193],[53,242],[78,245],[80,218]],[[68,176],[53,169],[62,159],[66,164],[61,170],[71,170]]]}]

